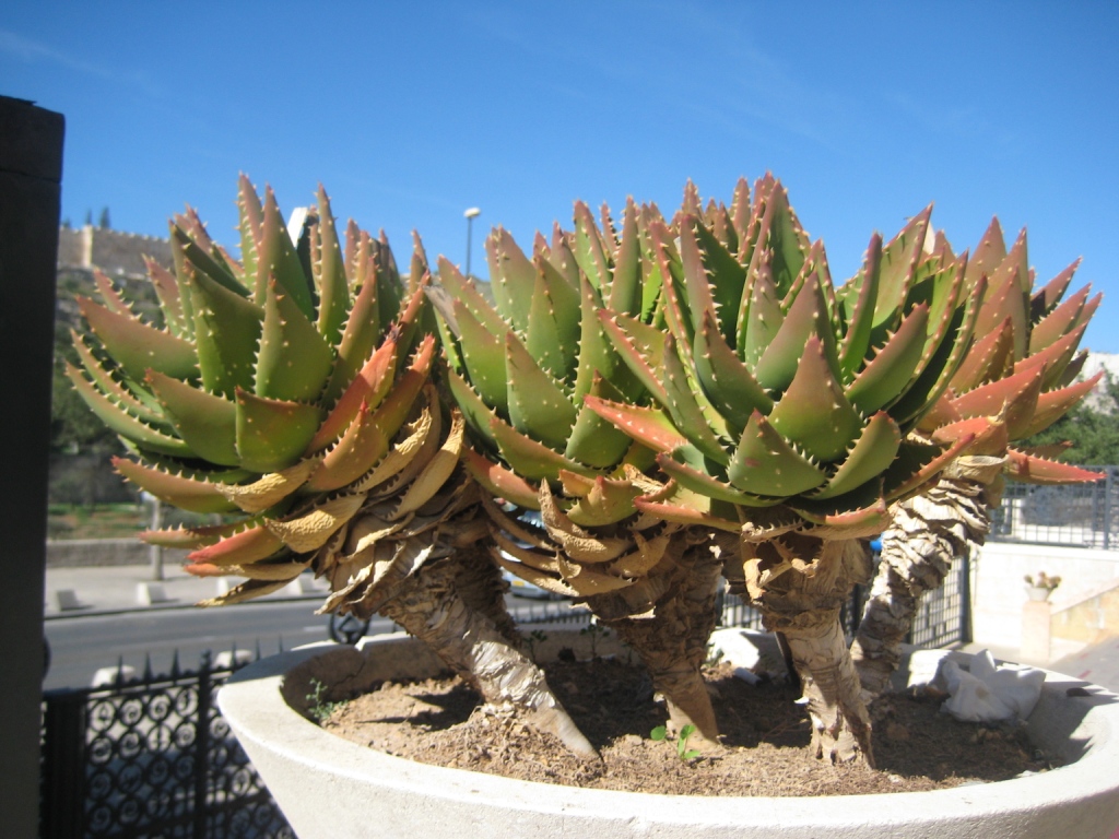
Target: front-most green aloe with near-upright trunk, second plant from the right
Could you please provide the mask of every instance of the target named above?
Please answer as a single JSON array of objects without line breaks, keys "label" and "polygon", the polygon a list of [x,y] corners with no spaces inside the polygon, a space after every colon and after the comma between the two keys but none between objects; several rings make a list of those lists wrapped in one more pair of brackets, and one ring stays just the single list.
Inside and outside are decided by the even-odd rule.
[{"label": "front-most green aloe with near-upright trunk, second plant from the right", "polygon": [[652,403],[586,403],[671,478],[642,512],[740,538],[725,574],[788,639],[818,753],[871,758],[839,607],[869,574],[858,539],[972,440],[910,432],[963,360],[981,284],[966,258],[924,251],[927,209],[835,289],[783,187],[767,176],[746,195],[740,182],[734,236],[694,210],[651,226],[667,330],[601,319]]}]

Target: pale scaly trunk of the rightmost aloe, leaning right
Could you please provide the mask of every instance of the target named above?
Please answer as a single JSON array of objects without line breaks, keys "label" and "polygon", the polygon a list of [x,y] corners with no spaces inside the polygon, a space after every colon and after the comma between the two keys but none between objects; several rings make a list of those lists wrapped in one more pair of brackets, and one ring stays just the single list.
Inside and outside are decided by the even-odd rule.
[{"label": "pale scaly trunk of the rightmost aloe, leaning right", "polygon": [[971,545],[982,545],[990,530],[1003,461],[978,455],[960,460],[931,490],[891,510],[882,559],[852,645],[866,701],[885,690],[897,669],[921,595],[939,588],[952,560]]}]

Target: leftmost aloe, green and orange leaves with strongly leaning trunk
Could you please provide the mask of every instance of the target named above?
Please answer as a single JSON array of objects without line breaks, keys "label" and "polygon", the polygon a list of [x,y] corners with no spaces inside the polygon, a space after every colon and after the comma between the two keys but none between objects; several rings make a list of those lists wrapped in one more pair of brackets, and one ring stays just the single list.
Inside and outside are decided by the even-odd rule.
[{"label": "leftmost aloe, green and orange leaves with strongly leaning trunk", "polygon": [[102,282],[82,300],[75,387],[132,456],[116,469],[225,525],[144,535],[191,548],[188,571],[246,581],[201,605],[275,591],[310,568],[322,611],[380,612],[430,643],[495,705],[511,703],[587,757],[594,750],[519,651],[461,469],[464,421],[440,402],[419,239],[408,283],[384,236],[350,223],[345,249],[326,194],[293,241],[271,190],[246,178],[241,253],[188,211],[175,271],[149,265],[163,326]]}]

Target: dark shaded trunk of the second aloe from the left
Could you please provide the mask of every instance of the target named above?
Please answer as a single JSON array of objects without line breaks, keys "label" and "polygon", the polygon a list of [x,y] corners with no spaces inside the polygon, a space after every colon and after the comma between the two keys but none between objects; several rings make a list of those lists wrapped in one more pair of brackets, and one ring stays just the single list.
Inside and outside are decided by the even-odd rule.
[{"label": "dark shaded trunk of the second aloe from the left", "polygon": [[626,590],[589,597],[587,605],[640,657],[653,687],[665,697],[669,725],[677,732],[693,725],[714,744],[718,725],[702,672],[715,629],[722,572],[722,559],[711,546],[707,534],[681,531],[674,537],[662,560],[665,569],[649,581],[656,585],[642,586],[659,592],[651,609],[639,605]]}]

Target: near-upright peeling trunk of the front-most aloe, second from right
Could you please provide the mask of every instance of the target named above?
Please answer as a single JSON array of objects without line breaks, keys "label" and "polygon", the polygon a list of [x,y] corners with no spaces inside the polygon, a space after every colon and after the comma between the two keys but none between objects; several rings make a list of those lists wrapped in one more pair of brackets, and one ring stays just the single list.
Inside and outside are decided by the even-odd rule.
[{"label": "near-upright peeling trunk of the front-most aloe, second from right", "polygon": [[727,578],[732,591],[751,596],[765,628],[788,642],[816,756],[873,766],[871,718],[839,622],[852,587],[869,576],[862,543],[787,536],[780,548],[762,543],[743,550],[741,576],[728,566]]}]

